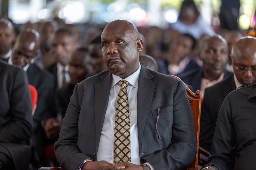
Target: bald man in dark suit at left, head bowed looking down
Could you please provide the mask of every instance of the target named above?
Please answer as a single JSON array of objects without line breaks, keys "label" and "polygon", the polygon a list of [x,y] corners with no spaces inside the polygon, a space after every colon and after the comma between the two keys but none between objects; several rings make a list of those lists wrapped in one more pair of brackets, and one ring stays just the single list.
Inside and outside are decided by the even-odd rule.
[{"label": "bald man in dark suit at left, head bowed looking down", "polygon": [[42,120],[54,117],[57,114],[57,109],[54,106],[54,78],[48,71],[39,68],[32,63],[32,59],[36,56],[40,45],[40,35],[35,30],[25,30],[21,32],[13,47],[11,61],[27,72],[28,83],[33,85],[38,92],[37,108],[33,115],[33,135],[32,146],[39,155],[39,158],[34,156],[37,163],[36,167],[40,167],[42,158],[42,149],[44,142],[44,129],[41,125]]}]

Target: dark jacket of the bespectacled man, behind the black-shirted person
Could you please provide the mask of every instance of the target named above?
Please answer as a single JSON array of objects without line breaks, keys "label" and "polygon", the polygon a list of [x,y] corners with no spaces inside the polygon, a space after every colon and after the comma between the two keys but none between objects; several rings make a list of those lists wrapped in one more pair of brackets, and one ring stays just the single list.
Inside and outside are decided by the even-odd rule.
[{"label": "dark jacket of the bespectacled man, behind the black-shirted person", "polygon": [[236,90],[234,75],[205,89],[201,107],[199,146],[210,152],[219,109],[225,97]]}]

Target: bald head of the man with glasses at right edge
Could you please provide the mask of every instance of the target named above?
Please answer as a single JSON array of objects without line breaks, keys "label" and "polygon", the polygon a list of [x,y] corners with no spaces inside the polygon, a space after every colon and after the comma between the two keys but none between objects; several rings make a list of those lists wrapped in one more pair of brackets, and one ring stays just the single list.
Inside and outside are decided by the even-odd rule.
[{"label": "bald head of the man with glasses at right edge", "polygon": [[256,38],[242,37],[233,46],[231,59],[237,80],[247,86],[256,83]]}]

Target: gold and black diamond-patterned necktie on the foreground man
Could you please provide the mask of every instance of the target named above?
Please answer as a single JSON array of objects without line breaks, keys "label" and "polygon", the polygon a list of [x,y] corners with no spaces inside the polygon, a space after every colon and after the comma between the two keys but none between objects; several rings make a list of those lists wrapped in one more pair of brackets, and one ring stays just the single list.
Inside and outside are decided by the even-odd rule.
[{"label": "gold and black diamond-patterned necktie on the foreground man", "polygon": [[129,82],[120,80],[118,83],[121,89],[116,104],[114,163],[131,162],[129,103],[126,91]]}]

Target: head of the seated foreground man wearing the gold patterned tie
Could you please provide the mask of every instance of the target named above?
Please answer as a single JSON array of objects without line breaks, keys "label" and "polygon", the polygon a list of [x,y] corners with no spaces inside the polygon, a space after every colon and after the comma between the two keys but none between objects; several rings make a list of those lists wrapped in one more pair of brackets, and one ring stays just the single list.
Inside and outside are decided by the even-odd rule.
[{"label": "head of the seated foreground man wearing the gold patterned tie", "polygon": [[110,72],[124,79],[139,68],[139,52],[143,41],[133,23],[110,22],[101,34],[103,59]]}]

